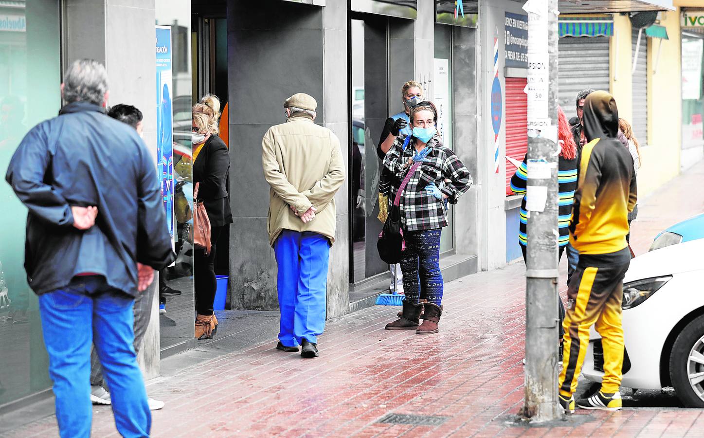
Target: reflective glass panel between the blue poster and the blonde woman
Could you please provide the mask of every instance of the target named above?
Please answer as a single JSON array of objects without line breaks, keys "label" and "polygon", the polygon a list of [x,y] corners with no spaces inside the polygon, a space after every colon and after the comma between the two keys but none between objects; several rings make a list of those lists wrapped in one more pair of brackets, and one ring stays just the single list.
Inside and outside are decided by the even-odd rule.
[{"label": "reflective glass panel between the blue poster and the blonde woman", "polygon": [[[159,323],[161,349],[194,342],[193,183],[191,144],[191,4],[185,0],[157,0],[156,24],[171,27],[173,99],[173,218],[177,254],[174,265],[161,272]],[[172,352],[180,349],[173,349]]]}]

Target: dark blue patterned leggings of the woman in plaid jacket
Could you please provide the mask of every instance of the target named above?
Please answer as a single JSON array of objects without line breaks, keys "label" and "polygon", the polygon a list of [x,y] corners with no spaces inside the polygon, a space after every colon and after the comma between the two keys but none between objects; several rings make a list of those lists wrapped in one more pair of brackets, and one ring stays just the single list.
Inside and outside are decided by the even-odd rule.
[{"label": "dark blue patterned leggings of the woman in plaid jacket", "polygon": [[444,283],[440,272],[440,229],[405,231],[406,249],[401,253],[403,292],[417,303],[421,289],[428,302],[440,305]]}]

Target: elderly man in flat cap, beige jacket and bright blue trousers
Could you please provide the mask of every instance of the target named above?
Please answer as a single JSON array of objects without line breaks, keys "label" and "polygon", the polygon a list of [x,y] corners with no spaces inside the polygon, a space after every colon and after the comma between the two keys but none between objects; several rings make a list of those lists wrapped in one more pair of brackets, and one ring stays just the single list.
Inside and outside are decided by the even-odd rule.
[{"label": "elderly man in flat cap, beige jacket and bright blue trousers", "polygon": [[269,241],[279,268],[277,289],[282,351],[318,356],[325,328],[327,267],[335,239],[335,193],[345,180],[340,142],[315,125],[315,99],[286,99],[286,123],[269,128],[262,141],[269,195]]}]

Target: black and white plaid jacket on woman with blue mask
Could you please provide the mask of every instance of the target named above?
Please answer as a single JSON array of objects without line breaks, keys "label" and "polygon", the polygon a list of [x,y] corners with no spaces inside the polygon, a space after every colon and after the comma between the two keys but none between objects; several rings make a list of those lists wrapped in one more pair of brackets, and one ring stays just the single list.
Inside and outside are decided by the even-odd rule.
[{"label": "black and white plaid jacket on woman with blue mask", "polygon": [[[411,167],[408,165],[408,159],[417,153],[414,145],[415,138],[411,137],[408,146],[403,149],[405,140],[406,136],[404,135],[397,137],[396,142],[384,157],[384,168],[389,169],[396,177],[392,178],[392,184],[384,187],[386,194],[389,195],[389,208],[394,204],[398,185],[401,184],[403,177]],[[425,187],[431,182],[440,188],[441,182],[445,179],[450,180],[441,189],[441,192],[448,196],[450,204],[457,204],[460,195],[467,192],[472,185],[470,171],[465,168],[460,158],[451,149],[441,144],[437,134],[429,140],[427,146],[432,148],[427,156],[430,162],[422,163],[415,170],[415,174],[410,177],[406,189],[401,194],[399,207],[401,208],[401,227],[403,230],[436,230],[447,226],[447,215],[443,201],[435,199],[425,191]]]}]

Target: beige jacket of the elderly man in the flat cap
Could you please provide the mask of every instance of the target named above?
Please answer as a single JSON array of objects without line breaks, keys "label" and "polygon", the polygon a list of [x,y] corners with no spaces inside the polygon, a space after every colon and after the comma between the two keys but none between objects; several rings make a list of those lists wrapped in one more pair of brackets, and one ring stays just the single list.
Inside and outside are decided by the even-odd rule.
[{"label": "beige jacket of the elderly man in the flat cap", "polygon": [[[345,180],[340,142],[327,127],[308,117],[291,117],[269,128],[262,140],[264,177],[269,192],[269,243],[274,246],[282,230],[317,232],[334,242],[335,193]],[[296,216],[318,210],[303,223]]]}]

